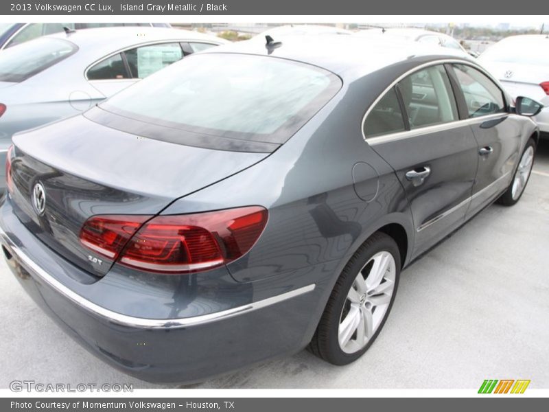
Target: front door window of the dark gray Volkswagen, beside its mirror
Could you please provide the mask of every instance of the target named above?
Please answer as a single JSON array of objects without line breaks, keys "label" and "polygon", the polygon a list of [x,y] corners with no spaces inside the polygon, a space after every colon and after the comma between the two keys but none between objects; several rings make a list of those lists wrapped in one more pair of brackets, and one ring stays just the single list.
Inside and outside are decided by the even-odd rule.
[{"label": "front door window of the dark gray Volkswagen, beside its mirror", "polygon": [[467,65],[452,65],[452,67],[465,96],[469,117],[506,111],[502,90],[484,73]]}]

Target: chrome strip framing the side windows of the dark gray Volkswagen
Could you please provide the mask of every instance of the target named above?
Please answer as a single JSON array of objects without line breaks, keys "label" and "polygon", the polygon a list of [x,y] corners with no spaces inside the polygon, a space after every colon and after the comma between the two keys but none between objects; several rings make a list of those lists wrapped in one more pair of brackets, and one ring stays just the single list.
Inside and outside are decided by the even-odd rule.
[{"label": "chrome strip framing the side windows of the dark gray Volkswagen", "polygon": [[[366,123],[366,117],[368,117],[368,115],[370,114],[370,112],[373,110],[373,108],[375,107],[375,105],[379,102],[379,100],[382,100],[382,98],[384,97],[384,95],[390,90],[392,89],[393,87],[395,87],[395,84],[397,84],[400,80],[404,79],[406,76],[414,73],[415,71],[419,71],[421,69],[424,69],[425,67],[430,67],[430,66],[436,66],[436,65],[444,65],[445,63],[458,63],[460,65],[467,65],[467,66],[471,66],[471,67],[474,67],[475,69],[477,69],[478,71],[480,71],[481,73],[483,73],[485,76],[487,76],[490,80],[492,80],[493,82],[495,82],[495,84],[500,87],[500,89],[502,89],[502,91],[504,90],[503,87],[501,87],[501,84],[498,80],[496,80],[490,73],[488,73],[485,69],[483,69],[482,67],[476,65],[475,62],[472,62],[470,60],[461,60],[461,59],[458,59],[458,58],[443,58],[443,59],[439,59],[439,60],[432,60],[430,62],[427,62],[427,63],[423,63],[423,65],[419,65],[419,66],[416,66],[414,67],[413,69],[410,69],[408,71],[406,71],[406,73],[403,73],[401,74],[401,76],[399,76],[396,80],[393,80],[393,82],[391,84],[389,84],[388,87],[386,87],[386,89],[384,91],[382,91],[381,94],[379,94],[379,96],[377,96],[377,98],[372,102],[372,104],[370,105],[370,107],[368,108],[368,110],[366,110],[366,113],[364,113],[364,116],[362,117],[362,122],[360,124],[360,133],[362,133],[362,138],[364,139],[364,141],[366,141],[368,144],[379,144],[379,143],[385,143],[384,140],[382,140],[383,138],[385,137],[392,137],[394,135],[399,135],[398,137],[394,137],[393,139],[387,139],[387,141],[391,141],[391,140],[399,140],[399,139],[404,139],[405,137],[413,137],[415,136],[416,134],[413,134],[413,135],[404,135],[406,133],[412,133],[412,132],[420,132],[418,134],[423,134],[425,132],[425,129],[427,128],[431,128],[431,127],[435,127],[435,126],[450,126],[449,128],[453,128],[453,127],[457,127],[457,124],[459,124],[460,122],[464,122],[464,123],[461,123],[460,126],[464,126],[466,124],[468,124],[467,122],[476,122],[478,121],[479,119],[484,121],[484,120],[487,120],[487,119],[490,119],[491,116],[493,115],[486,115],[486,116],[479,116],[479,117],[471,117],[470,119],[460,119],[460,120],[454,120],[454,122],[448,122],[448,123],[443,123],[443,124],[436,124],[436,125],[433,125],[433,126],[425,126],[425,127],[421,127],[421,128],[416,128],[414,130],[405,130],[404,132],[397,132],[397,133],[390,133],[388,135],[382,135],[382,136],[379,136],[379,137],[369,137],[369,138],[366,138],[366,135],[364,135],[364,123]],[[506,96],[506,94],[504,94]],[[507,103],[507,102],[506,102]],[[509,115],[510,113],[494,113],[494,115]],[[442,128],[441,130],[446,130],[445,128]],[[403,136],[400,136],[400,135],[403,135]],[[375,140],[377,139],[377,141]]]}]

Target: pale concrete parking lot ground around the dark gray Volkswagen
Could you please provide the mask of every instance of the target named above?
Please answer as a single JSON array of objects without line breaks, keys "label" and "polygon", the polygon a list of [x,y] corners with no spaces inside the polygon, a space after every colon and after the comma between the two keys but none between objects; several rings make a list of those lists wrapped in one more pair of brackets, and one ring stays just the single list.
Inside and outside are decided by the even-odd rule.
[{"label": "pale concrete parking lot ground around the dark gray Volkswagen", "polygon": [[[401,275],[386,326],[345,367],[303,351],[193,388],[478,388],[530,379],[549,388],[549,140],[514,207],[492,205]],[[0,387],[132,383],[51,321],[0,263]],[[185,350],[185,348],[182,348]],[[171,386],[174,387],[174,386]]]}]

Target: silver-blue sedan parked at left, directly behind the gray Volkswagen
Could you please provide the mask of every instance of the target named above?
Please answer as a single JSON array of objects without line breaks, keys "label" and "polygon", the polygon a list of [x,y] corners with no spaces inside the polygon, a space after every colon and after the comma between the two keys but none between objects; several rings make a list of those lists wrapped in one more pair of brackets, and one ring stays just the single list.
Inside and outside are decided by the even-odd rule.
[{"label": "silver-blue sedan parked at left, directly behind the gray Volkswagen", "polygon": [[53,34],[0,52],[0,162],[14,133],[78,114],[183,56],[224,43],[185,30],[116,27]]}]

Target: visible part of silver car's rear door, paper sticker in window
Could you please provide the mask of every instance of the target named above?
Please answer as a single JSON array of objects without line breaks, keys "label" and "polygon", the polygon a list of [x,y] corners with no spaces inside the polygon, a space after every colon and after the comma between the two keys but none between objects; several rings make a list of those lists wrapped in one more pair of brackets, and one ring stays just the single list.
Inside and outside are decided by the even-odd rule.
[{"label": "visible part of silver car's rear door, paper sticker in window", "polygon": [[86,78],[109,98],[182,58],[183,49],[176,42],[133,47],[96,62],[86,70]]}]

